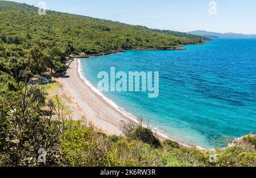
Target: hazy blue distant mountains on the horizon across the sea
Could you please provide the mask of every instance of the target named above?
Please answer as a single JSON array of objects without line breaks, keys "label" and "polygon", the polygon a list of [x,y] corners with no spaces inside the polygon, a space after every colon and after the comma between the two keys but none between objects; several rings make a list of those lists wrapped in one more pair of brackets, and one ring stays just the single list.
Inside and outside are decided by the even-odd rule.
[{"label": "hazy blue distant mountains on the horizon across the sea", "polygon": [[200,35],[209,38],[217,37],[217,38],[229,38],[229,39],[256,39],[256,35],[245,35],[241,33],[217,33],[217,32],[208,32],[208,31],[192,31],[187,32],[192,35]]}]

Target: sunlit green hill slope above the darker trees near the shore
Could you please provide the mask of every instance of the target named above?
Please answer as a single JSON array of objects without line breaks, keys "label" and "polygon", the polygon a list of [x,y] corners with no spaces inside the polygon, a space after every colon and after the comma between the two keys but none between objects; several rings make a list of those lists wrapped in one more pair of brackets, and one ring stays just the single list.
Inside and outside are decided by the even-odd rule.
[{"label": "sunlit green hill slope above the darker trees near the shore", "polygon": [[0,1],[0,31],[3,43],[8,37],[24,41],[55,41],[66,53],[100,53],[117,49],[176,48],[201,43],[200,37],[166,35],[146,27],[131,26],[110,20],[47,11],[26,4]]}]

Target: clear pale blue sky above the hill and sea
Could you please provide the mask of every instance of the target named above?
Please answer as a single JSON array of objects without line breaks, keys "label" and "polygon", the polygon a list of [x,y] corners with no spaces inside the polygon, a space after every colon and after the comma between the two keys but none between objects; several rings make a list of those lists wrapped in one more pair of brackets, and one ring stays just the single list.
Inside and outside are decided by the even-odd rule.
[{"label": "clear pale blue sky above the hill and sea", "polygon": [[[38,6],[40,0],[16,0]],[[46,9],[150,28],[256,33],[255,0],[216,0],[217,15],[209,15],[211,0],[44,0]]]}]

